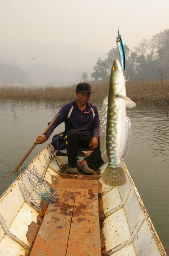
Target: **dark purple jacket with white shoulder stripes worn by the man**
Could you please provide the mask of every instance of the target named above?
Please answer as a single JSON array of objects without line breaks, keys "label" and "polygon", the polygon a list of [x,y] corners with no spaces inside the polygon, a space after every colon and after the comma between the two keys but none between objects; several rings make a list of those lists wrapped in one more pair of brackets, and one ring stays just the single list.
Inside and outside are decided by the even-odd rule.
[{"label": "dark purple jacket with white shoulder stripes worn by the man", "polygon": [[99,138],[99,114],[95,105],[87,102],[86,108],[81,111],[76,105],[76,100],[65,104],[59,111],[60,115],[54,124],[45,133],[48,138],[51,136],[54,129],[65,122],[65,132],[71,129],[77,129],[80,134],[92,135]]}]

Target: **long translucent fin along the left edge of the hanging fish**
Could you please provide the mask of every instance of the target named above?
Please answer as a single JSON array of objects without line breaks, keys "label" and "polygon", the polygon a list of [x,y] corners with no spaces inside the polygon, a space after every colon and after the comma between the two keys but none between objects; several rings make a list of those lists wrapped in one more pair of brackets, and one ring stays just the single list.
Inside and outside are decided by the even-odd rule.
[{"label": "long translucent fin along the left edge of the hanging fish", "polygon": [[101,116],[100,116],[100,151],[101,151],[101,158],[105,163],[108,162],[109,160],[107,156],[107,148],[106,148],[107,105],[108,105],[108,95],[104,98]]}]

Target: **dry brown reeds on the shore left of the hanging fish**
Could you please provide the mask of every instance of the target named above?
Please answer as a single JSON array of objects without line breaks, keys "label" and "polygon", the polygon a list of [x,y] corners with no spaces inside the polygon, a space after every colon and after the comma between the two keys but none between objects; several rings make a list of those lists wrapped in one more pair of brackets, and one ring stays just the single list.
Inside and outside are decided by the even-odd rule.
[{"label": "dry brown reeds on the shore left of the hanging fish", "polygon": [[[108,91],[108,81],[100,82],[92,85],[93,100],[102,100]],[[47,101],[70,101],[75,98],[76,84],[67,87],[64,86],[30,86],[22,85],[18,86],[15,84],[1,85],[0,86],[0,99],[1,100],[47,100]]]}]

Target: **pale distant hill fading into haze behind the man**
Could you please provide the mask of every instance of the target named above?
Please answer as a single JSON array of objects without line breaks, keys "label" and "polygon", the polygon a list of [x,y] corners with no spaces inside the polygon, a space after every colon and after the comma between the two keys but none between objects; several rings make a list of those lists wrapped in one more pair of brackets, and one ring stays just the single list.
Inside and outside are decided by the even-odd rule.
[{"label": "pale distant hill fading into haze behind the man", "polygon": [[[30,75],[31,83],[76,83],[83,71],[89,74],[93,71],[99,57],[105,58],[105,53],[85,47],[59,42],[45,44],[30,41],[0,47],[0,55],[3,56],[0,63],[3,59],[6,64],[19,67]],[[21,79],[24,79],[22,73]]]}]

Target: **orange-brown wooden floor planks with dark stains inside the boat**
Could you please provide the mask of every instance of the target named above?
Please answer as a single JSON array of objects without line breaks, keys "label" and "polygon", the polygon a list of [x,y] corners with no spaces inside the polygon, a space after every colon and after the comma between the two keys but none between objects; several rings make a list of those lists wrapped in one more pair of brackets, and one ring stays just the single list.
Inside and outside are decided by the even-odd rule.
[{"label": "orange-brown wooden floor planks with dark stains inside the boat", "polygon": [[101,256],[98,194],[59,189],[42,221],[30,256]]}]

